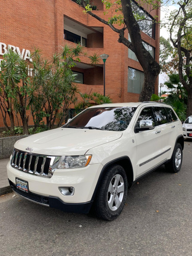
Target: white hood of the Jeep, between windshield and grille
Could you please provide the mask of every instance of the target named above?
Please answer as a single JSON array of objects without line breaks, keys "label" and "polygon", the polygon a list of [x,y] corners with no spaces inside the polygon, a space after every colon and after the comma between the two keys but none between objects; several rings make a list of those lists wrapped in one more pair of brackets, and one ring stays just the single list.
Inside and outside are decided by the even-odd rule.
[{"label": "white hood of the Jeep, between windshield and grille", "polygon": [[122,132],[58,128],[18,140],[20,151],[49,156],[84,155],[90,148],[119,139]]}]

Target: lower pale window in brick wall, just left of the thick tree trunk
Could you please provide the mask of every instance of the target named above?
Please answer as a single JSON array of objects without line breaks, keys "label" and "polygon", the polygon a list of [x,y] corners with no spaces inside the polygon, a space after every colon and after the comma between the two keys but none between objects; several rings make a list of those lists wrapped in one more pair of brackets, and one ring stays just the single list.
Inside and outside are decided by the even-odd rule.
[{"label": "lower pale window in brick wall, just left of the thick tree trunk", "polygon": [[141,93],[144,80],[144,73],[142,71],[128,68],[128,87],[129,93]]}]

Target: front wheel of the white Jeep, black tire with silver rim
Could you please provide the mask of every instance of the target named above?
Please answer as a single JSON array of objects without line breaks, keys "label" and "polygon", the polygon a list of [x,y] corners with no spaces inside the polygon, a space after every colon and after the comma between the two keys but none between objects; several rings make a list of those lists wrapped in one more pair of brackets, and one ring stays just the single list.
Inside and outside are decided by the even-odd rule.
[{"label": "front wheel of the white Jeep, black tire with silver rim", "polygon": [[126,196],[126,173],[122,166],[112,165],[106,169],[94,201],[97,217],[109,221],[116,219],[124,207]]}]

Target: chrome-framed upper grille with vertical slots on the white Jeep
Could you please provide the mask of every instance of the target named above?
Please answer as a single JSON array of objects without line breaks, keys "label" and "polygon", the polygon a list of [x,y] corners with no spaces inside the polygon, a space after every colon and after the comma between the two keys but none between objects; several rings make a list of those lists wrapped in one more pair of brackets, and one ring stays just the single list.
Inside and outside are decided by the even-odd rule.
[{"label": "chrome-framed upper grille with vertical slots on the white Jeep", "polygon": [[51,178],[60,157],[32,154],[14,148],[11,166],[23,172]]}]

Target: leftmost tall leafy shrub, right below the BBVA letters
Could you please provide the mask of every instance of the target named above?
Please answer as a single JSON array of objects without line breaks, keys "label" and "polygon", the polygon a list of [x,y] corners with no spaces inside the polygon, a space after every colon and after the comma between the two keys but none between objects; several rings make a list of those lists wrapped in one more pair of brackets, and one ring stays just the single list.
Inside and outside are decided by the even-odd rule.
[{"label": "leftmost tall leafy shrub, right below the BBVA letters", "polygon": [[[6,111],[11,122],[11,134],[14,134],[14,112],[19,113],[23,123],[24,134],[28,134],[28,92],[30,90],[30,80],[28,78],[28,64],[20,58],[20,55],[8,50],[4,54],[0,72],[1,94],[3,104],[2,110],[4,124],[6,123]],[[1,99],[2,101],[2,99]]]}]

